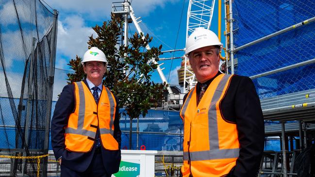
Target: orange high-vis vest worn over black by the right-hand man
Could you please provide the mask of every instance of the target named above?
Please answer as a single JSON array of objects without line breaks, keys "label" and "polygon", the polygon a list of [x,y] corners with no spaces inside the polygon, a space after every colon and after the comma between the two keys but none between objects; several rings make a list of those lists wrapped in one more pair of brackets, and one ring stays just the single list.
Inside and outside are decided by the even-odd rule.
[{"label": "orange high-vis vest worn over black by the right-hand man", "polygon": [[184,122],[183,177],[221,177],[239,156],[236,125],[222,118],[220,102],[232,75],[220,74],[208,86],[197,106],[196,87],[188,93],[180,115]]}]

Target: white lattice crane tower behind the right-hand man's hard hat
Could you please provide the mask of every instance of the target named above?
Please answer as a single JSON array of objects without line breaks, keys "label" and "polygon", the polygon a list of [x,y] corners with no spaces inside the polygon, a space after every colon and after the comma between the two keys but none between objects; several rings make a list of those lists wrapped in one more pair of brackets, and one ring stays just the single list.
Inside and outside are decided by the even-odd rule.
[{"label": "white lattice crane tower behind the right-hand man's hard hat", "polygon": [[[186,42],[188,36],[194,32],[198,27],[209,29],[211,25],[211,19],[215,7],[216,0],[189,0],[188,12],[187,12],[187,26],[186,26]],[[184,57],[184,81],[183,92],[188,93],[192,86],[196,85],[195,74],[189,70],[190,65],[187,57]],[[186,76],[189,75],[189,76]]]}]

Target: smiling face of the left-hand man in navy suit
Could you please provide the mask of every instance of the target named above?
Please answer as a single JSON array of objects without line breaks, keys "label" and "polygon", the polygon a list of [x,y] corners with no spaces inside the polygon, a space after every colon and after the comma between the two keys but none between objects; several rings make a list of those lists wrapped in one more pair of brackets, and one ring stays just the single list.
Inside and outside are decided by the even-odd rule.
[{"label": "smiling face of the left-hand man in navy suit", "polygon": [[83,65],[83,70],[88,80],[100,81],[103,79],[103,75],[106,72],[106,67],[103,62],[91,61],[91,62],[86,62]]}]

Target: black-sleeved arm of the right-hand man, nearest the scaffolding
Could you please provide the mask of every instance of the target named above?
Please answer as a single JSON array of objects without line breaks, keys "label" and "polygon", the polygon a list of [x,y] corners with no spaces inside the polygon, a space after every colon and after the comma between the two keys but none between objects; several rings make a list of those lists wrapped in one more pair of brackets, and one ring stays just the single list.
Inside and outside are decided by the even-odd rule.
[{"label": "black-sleeved arm of the right-hand man, nearest the scaffolding", "polygon": [[240,153],[232,175],[256,177],[264,151],[265,128],[260,100],[250,78],[240,77],[234,103]]}]

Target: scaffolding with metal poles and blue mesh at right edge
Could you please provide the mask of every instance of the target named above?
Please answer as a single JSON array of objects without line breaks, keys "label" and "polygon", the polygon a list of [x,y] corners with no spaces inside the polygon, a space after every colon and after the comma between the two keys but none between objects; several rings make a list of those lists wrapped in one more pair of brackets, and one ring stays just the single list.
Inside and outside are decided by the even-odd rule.
[{"label": "scaffolding with metal poles and blue mesh at right edge", "polygon": [[273,154],[274,165],[282,163],[280,172],[274,166],[271,172],[260,171],[260,176],[296,175],[292,171],[294,158],[288,159],[295,156],[287,151],[287,134],[298,133],[301,150],[308,145],[307,132],[314,130],[315,2],[225,3],[228,72],[253,80],[264,119],[278,123],[266,126],[266,136],[279,135],[282,139],[282,154]]}]

